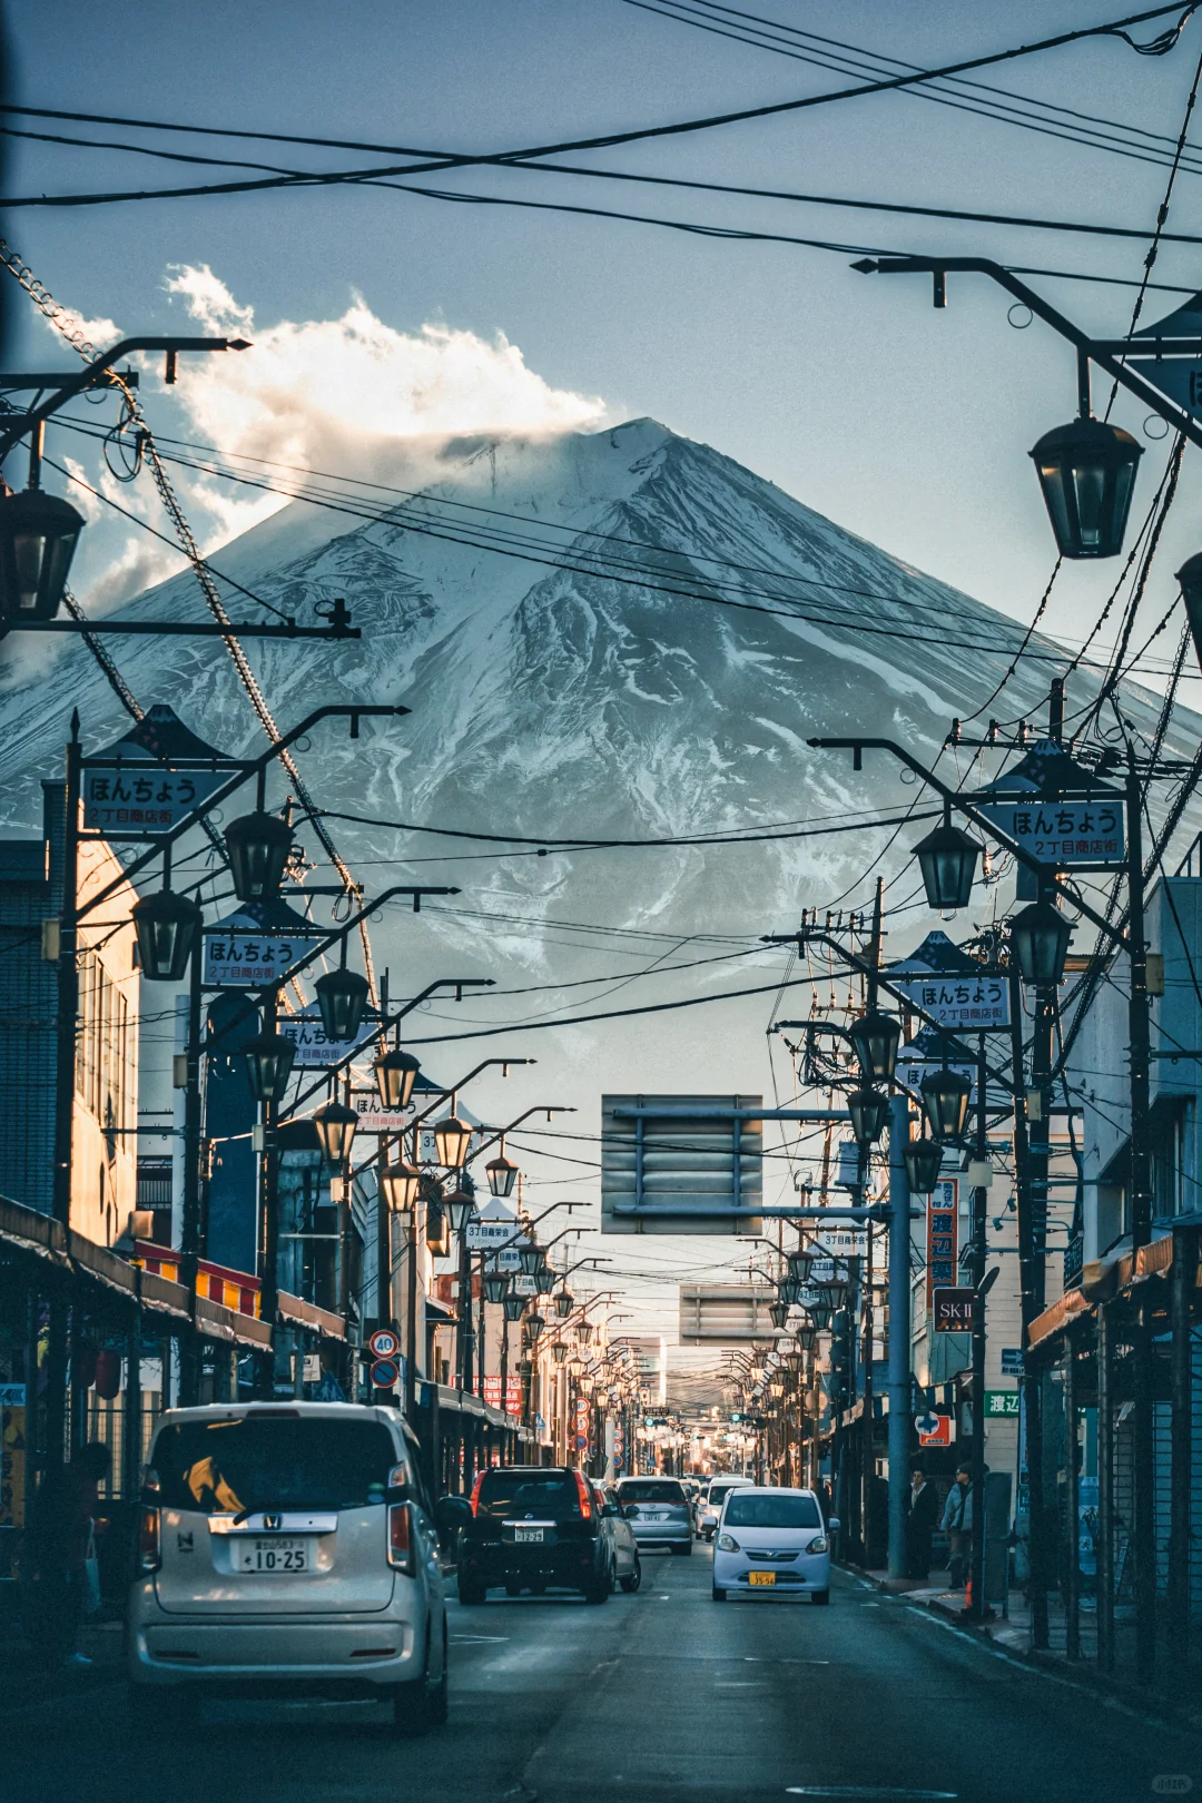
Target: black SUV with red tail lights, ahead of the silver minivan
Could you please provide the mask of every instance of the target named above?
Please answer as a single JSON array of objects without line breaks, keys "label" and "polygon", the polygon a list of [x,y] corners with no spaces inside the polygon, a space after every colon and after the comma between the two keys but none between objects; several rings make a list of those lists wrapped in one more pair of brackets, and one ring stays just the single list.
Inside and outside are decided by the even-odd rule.
[{"label": "black SUV with red tail lights, ahead of the silver minivan", "polygon": [[460,1529],[460,1601],[483,1603],[550,1585],[606,1603],[615,1581],[609,1524],[582,1471],[562,1466],[490,1466],[476,1478],[472,1515]]}]

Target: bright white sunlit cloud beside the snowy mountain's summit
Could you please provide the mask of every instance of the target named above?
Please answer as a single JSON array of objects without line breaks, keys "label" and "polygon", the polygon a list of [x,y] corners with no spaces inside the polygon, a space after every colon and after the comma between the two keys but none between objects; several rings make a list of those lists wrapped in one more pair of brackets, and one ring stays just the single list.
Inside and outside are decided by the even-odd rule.
[{"label": "bright white sunlit cloud beside the snowy mountain's summit", "polygon": [[[398,332],[359,296],[339,319],[256,326],[207,265],[173,267],[166,287],[205,332],[252,339],[249,352],[180,359],[173,393],[191,429],[223,451],[380,478],[414,440],[575,431],[606,413],[596,397],[551,388],[503,332]],[[223,537],[279,505],[227,494],[204,492]]]}]

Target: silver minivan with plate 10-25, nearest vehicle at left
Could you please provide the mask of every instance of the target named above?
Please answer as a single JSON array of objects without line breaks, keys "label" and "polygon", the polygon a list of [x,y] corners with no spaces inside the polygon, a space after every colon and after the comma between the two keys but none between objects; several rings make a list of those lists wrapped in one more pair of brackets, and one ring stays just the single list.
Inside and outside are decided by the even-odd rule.
[{"label": "silver minivan with plate 10-25, nearest vehicle at left", "polygon": [[395,1408],[218,1403],[162,1415],[128,1605],[135,1716],[209,1697],[386,1702],[447,1718],[447,1608],[418,1442]]}]

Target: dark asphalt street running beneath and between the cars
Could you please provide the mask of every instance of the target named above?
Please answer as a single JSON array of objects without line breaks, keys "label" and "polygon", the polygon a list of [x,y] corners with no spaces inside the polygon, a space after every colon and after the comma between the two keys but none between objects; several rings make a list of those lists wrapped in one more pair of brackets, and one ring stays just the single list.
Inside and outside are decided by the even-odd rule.
[{"label": "dark asphalt street running beneath and between the cars", "polygon": [[[1202,1789],[1202,1740],[1106,1706],[834,1574],[829,1608],[710,1599],[710,1554],[647,1556],[604,1606],[451,1605],[451,1722],[213,1704],[169,1744],[124,1689],[0,1716],[4,1803],[1132,1803]],[[1171,1789],[1170,1783],[1171,1781]],[[1184,1785],[1182,1780],[1189,1780]]]}]

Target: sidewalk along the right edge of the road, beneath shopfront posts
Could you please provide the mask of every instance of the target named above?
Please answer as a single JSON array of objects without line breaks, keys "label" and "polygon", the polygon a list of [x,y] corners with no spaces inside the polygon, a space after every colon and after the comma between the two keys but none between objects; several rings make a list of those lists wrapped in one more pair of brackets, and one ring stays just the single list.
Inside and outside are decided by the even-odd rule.
[{"label": "sidewalk along the right edge of the road, beneath shopfront posts", "polygon": [[1065,1680],[1088,1686],[1099,1695],[1134,1709],[1137,1715],[1159,1715],[1177,1727],[1202,1733],[1202,1706],[1198,1702],[1198,1668],[1191,1661],[1180,1668],[1162,1653],[1157,1666],[1157,1684],[1141,1686],[1134,1677],[1125,1675],[1134,1664],[1134,1619],[1130,1608],[1115,1610],[1117,1673],[1105,1677],[1096,1664],[1097,1635],[1094,1612],[1088,1599],[1081,1605],[1081,1655],[1069,1659],[1063,1603],[1056,1592],[1047,1597],[1047,1648],[1031,1644],[1031,1608],[1022,1590],[1011,1590],[1006,1614],[998,1608],[993,1621],[968,1621],[964,1615],[964,1592],[948,1590],[946,1585],[915,1583],[910,1578],[890,1578],[883,1570],[851,1570],[865,1578],[876,1590],[899,1596],[915,1608],[930,1608],[944,1621],[953,1623],[962,1634],[973,1634],[989,1641],[998,1652],[1013,1659],[1025,1659],[1031,1664],[1060,1673]]}]

